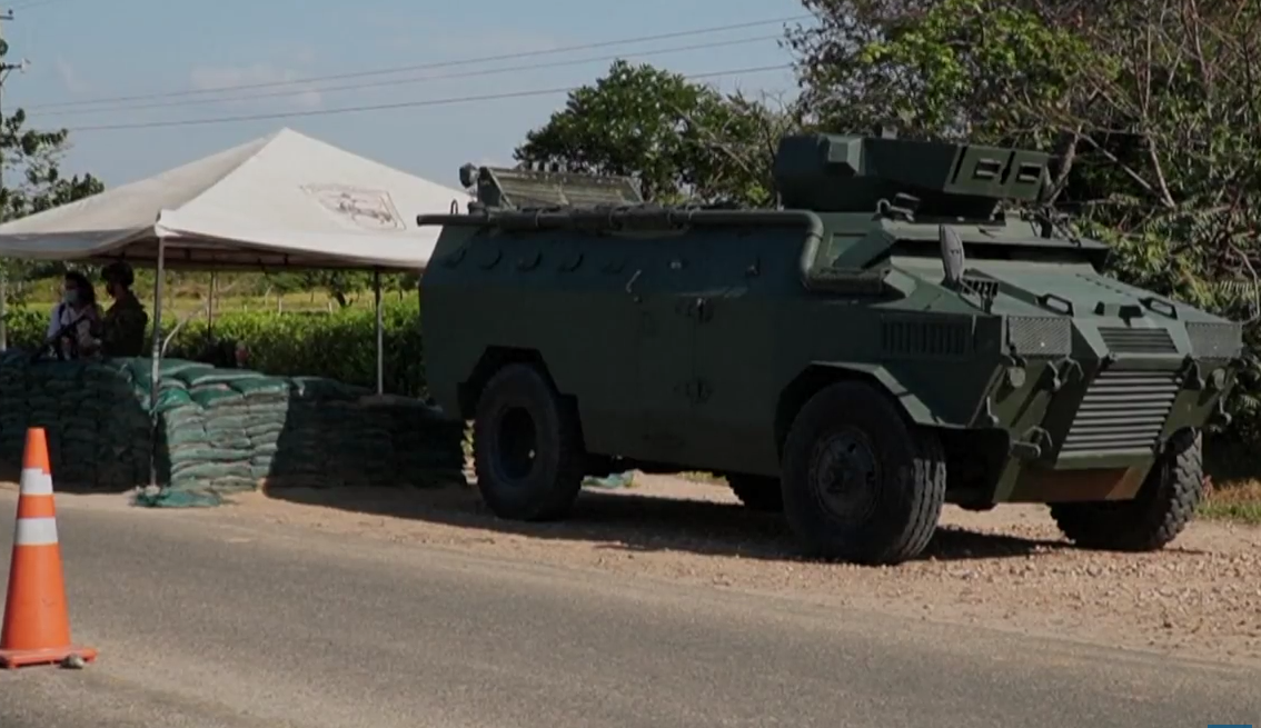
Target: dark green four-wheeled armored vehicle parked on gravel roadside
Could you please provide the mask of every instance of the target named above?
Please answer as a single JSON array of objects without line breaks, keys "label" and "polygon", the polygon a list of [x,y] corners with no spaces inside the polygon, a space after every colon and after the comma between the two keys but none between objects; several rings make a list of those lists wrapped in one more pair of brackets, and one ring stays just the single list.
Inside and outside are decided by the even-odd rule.
[{"label": "dark green four-wheeled armored vehicle parked on gravel roadside", "polygon": [[789,136],[784,209],[762,210],[465,168],[483,202],[417,220],[444,225],[421,281],[431,393],[474,422],[502,518],[564,515],[584,475],[702,470],[815,555],[913,558],[943,503],[1047,503],[1081,545],[1160,548],[1202,495],[1241,327],[1010,212],[1037,209],[1048,161]]}]

